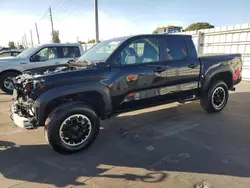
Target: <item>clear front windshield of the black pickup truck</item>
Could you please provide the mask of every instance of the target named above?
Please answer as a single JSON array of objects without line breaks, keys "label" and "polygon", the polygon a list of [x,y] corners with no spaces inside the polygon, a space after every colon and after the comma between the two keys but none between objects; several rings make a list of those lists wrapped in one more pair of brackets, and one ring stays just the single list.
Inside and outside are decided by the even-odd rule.
[{"label": "clear front windshield of the black pickup truck", "polygon": [[118,38],[100,42],[86,51],[76,63],[81,62],[105,62],[117,47],[125,41],[126,38]]}]

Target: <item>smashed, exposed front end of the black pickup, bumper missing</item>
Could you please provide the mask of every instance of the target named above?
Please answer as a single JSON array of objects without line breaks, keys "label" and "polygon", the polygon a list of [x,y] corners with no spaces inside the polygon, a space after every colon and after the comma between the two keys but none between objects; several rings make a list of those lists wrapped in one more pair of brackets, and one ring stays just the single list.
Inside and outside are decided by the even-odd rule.
[{"label": "smashed, exposed front end of the black pickup, bumper missing", "polygon": [[14,123],[26,129],[38,128],[40,126],[38,123],[39,108],[36,107],[36,99],[48,89],[45,87],[45,77],[78,69],[73,66],[47,68],[43,71],[33,69],[14,78],[13,100],[15,102],[11,106],[11,119]]}]

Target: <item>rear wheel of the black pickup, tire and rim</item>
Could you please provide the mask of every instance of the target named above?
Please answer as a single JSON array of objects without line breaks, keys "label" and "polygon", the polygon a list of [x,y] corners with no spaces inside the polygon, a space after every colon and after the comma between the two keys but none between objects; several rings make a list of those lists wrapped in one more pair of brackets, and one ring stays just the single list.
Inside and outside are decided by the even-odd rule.
[{"label": "rear wheel of the black pickup, tire and rim", "polygon": [[201,96],[201,106],[208,113],[220,112],[228,101],[228,87],[223,81],[215,81]]}]

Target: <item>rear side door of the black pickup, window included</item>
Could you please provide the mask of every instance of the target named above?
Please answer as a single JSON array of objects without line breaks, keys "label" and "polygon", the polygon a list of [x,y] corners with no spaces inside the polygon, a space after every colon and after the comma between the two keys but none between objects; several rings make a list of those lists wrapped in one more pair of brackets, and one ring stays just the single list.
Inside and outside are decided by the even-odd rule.
[{"label": "rear side door of the black pickup, window included", "polygon": [[[190,40],[190,41],[188,41]],[[200,62],[190,46],[192,39],[186,36],[165,36],[165,63],[167,65],[167,85],[169,92],[193,90],[198,87]]]}]

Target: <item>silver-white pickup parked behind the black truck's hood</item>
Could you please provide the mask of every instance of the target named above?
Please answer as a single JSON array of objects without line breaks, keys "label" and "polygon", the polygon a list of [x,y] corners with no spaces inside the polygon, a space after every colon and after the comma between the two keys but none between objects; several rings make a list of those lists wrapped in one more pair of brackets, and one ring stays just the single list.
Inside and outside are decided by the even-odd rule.
[{"label": "silver-white pickup parked behind the black truck's hood", "polygon": [[16,58],[0,60],[0,88],[12,93],[12,78],[33,68],[65,65],[80,57],[83,48],[79,44],[45,44],[24,50]]}]

